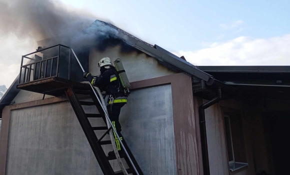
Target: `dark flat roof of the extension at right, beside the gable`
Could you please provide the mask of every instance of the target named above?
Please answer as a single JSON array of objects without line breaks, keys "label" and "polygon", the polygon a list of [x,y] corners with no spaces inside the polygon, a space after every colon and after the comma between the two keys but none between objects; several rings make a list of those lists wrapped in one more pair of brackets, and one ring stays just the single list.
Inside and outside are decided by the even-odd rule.
[{"label": "dark flat roof of the extension at right, beside the gable", "polygon": [[198,66],[239,90],[260,98],[290,99],[290,66]]}]

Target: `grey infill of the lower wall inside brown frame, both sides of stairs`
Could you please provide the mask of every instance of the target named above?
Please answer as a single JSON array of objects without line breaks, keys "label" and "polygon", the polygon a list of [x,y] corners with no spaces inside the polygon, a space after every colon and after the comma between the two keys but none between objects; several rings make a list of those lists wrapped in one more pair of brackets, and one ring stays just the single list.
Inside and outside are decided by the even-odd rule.
[{"label": "grey infill of the lower wall inside brown frame, both sides of stairs", "polygon": [[[85,107],[85,112],[97,110]],[[120,117],[124,138],[144,174],[176,174],[171,86],[132,91]],[[92,126],[104,125],[98,119],[91,120]],[[111,163],[119,170],[115,160]],[[19,172],[102,174],[69,102],[11,111],[6,174]]]}]

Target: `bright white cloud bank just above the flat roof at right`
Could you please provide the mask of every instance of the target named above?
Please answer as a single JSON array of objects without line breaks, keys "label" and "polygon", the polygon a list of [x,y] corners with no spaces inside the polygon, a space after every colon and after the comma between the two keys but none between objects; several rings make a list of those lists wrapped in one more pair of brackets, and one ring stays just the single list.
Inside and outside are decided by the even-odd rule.
[{"label": "bright white cloud bank just above the flat roof at right", "polygon": [[196,51],[176,55],[194,65],[290,65],[290,34],[268,39],[239,36],[226,42],[208,43]]}]

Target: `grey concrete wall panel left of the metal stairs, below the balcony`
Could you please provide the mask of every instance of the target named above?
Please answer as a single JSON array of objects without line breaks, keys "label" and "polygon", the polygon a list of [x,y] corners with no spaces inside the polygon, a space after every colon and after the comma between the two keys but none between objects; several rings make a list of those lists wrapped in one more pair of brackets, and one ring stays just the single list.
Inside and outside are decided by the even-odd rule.
[{"label": "grey concrete wall panel left of the metal stairs, below the balcony", "polygon": [[101,174],[70,103],[13,110],[6,174]]}]

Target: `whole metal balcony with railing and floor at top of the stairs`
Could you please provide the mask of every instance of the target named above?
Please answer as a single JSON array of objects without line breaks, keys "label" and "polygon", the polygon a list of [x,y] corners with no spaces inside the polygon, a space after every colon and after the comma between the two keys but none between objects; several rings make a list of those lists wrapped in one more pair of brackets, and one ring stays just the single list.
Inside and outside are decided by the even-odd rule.
[{"label": "whole metal balcony with railing and floor at top of the stairs", "polygon": [[[28,61],[23,65],[24,59]],[[53,96],[65,94],[67,81],[80,88],[89,89],[87,84],[75,81],[76,78],[74,81],[71,80],[71,67],[71,49],[68,46],[57,44],[38,49],[22,56],[19,82],[16,87]],[[79,74],[81,72],[80,70]]]}]

